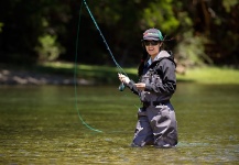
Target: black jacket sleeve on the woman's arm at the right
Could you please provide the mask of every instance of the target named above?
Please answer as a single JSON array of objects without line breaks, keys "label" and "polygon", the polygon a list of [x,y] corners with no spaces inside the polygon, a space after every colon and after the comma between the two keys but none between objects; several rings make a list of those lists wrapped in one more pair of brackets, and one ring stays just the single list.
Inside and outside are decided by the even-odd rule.
[{"label": "black jacket sleeve on the woman's arm at the right", "polygon": [[160,78],[151,84],[146,84],[145,91],[153,91],[163,95],[174,94],[176,90],[175,64],[165,58],[155,67]]}]

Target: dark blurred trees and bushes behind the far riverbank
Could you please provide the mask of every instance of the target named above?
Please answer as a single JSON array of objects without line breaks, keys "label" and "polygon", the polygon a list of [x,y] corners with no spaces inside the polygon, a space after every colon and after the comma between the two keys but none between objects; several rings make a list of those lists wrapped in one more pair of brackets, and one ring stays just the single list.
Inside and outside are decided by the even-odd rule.
[{"label": "dark blurred trees and bushes behind the far riverbank", "polygon": [[[0,1],[0,62],[115,66],[80,0]],[[116,59],[137,66],[142,33],[160,29],[180,66],[239,66],[239,0],[87,0]]]}]

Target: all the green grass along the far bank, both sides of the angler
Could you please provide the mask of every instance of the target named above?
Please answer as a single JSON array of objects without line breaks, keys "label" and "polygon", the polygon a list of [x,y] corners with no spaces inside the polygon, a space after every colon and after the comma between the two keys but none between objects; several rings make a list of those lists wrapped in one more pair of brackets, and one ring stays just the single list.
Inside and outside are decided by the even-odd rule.
[{"label": "all the green grass along the far bank, both sides of the angler", "polygon": [[[37,70],[73,76],[76,70],[78,78],[95,80],[98,84],[119,82],[117,68],[97,65],[77,65],[75,69],[72,63],[45,63],[37,66]],[[127,75],[137,80],[137,69],[123,68]],[[199,82],[199,84],[237,84],[239,85],[239,69],[228,67],[205,66],[187,69],[185,75],[177,74],[177,81]]]}]

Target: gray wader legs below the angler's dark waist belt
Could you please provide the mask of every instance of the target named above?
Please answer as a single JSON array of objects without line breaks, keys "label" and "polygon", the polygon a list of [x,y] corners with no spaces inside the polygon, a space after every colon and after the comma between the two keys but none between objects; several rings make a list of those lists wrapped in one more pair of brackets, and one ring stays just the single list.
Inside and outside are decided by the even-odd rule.
[{"label": "gray wader legs below the angler's dark waist belt", "polygon": [[177,144],[177,123],[172,105],[140,108],[132,146],[173,147]]}]

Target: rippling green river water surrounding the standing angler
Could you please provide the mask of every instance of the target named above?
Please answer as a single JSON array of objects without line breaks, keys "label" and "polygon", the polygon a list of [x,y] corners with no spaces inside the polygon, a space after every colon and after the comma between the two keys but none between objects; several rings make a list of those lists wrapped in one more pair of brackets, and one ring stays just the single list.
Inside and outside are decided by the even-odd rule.
[{"label": "rippling green river water surrounding the standing angler", "polygon": [[[138,98],[118,87],[0,87],[0,164],[237,164],[239,86],[178,84],[176,148],[130,147]],[[84,121],[101,133],[85,127]]]}]

